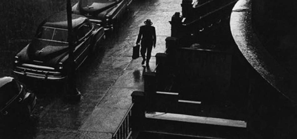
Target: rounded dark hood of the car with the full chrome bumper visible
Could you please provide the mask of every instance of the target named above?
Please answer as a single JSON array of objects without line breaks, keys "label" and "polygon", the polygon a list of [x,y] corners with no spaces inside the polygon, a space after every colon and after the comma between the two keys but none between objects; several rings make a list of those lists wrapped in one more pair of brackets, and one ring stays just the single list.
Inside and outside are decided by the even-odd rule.
[{"label": "rounded dark hood of the car with the full chrome bumper visible", "polygon": [[55,67],[61,60],[68,55],[68,44],[36,40],[25,47],[18,57],[22,63],[45,65]]}]

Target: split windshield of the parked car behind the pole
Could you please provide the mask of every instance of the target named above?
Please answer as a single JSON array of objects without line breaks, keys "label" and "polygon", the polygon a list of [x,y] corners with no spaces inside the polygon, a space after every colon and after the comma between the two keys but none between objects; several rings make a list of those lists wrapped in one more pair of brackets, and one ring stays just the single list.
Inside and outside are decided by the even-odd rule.
[{"label": "split windshield of the parked car behind the pole", "polygon": [[37,37],[42,40],[66,42],[68,39],[68,31],[66,29],[52,28],[43,26]]}]

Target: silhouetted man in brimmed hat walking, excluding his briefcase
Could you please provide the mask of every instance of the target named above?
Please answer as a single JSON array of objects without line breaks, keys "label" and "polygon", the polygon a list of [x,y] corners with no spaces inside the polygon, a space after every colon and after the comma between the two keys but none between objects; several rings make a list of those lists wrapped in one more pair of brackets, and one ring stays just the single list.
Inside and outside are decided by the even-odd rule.
[{"label": "silhouetted man in brimmed hat walking, excluding his briefcase", "polygon": [[[151,20],[147,19],[144,22],[144,26],[140,26],[138,38],[136,44],[138,45],[141,40],[141,49],[140,53],[143,58],[141,64],[143,65],[146,60],[146,65],[149,66],[149,59],[151,58],[152,48],[156,47],[156,31],[155,27],[152,26],[153,23]],[[147,56],[145,59],[145,52],[147,51]]]}]

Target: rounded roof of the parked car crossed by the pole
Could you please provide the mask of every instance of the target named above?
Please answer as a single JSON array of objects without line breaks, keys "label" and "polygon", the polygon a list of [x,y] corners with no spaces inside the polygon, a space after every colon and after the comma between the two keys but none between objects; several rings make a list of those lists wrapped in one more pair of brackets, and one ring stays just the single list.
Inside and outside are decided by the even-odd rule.
[{"label": "rounded roof of the parked car crossed by the pole", "polygon": [[[82,15],[72,14],[72,27],[76,28],[81,24],[88,22],[88,18]],[[55,28],[67,29],[67,14],[66,12],[60,12],[55,14],[44,21],[42,26],[49,26]]]}]

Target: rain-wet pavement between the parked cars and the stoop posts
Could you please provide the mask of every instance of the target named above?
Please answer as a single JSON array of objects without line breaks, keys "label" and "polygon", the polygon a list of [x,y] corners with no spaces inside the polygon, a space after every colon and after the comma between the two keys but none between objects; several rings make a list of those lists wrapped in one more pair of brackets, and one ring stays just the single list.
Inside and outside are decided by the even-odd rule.
[{"label": "rain-wet pavement between the parked cars and the stoop posts", "polygon": [[[143,91],[143,70],[154,70],[154,55],[165,51],[165,38],[170,36],[168,21],[174,12],[181,11],[180,3],[181,0],[134,0],[120,28],[79,69],[77,84],[82,93],[81,102],[69,104],[61,97],[37,93],[40,97],[33,112],[35,123],[9,136],[36,139],[111,138],[132,103],[131,93]],[[139,27],[146,19],[154,23],[157,35],[149,69],[141,65],[141,57],[132,60],[132,47],[135,46]]]}]

